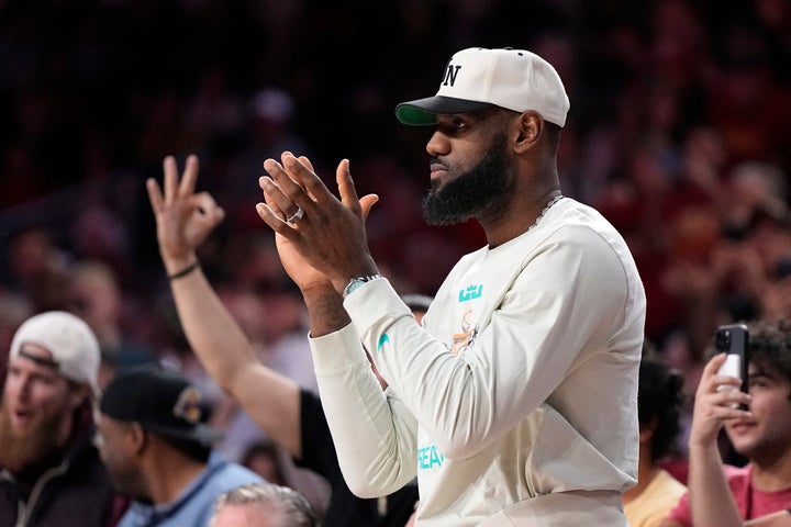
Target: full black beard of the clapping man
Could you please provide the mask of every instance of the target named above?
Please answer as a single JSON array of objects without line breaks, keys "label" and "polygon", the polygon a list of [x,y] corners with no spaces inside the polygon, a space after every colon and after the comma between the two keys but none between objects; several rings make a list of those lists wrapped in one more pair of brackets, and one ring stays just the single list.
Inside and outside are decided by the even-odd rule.
[{"label": "full black beard of the clapping man", "polygon": [[500,134],[478,165],[444,187],[432,187],[423,198],[423,216],[430,225],[494,220],[504,214],[513,187],[513,165],[505,155],[505,134]]}]

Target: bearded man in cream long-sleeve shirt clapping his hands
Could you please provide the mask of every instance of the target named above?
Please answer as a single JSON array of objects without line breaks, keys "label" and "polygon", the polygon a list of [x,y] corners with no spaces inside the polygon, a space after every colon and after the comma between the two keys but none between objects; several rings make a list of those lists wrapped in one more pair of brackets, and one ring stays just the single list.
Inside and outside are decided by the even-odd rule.
[{"label": "bearded man in cream long-sleeve shirt clapping his hands", "polygon": [[357,197],[349,161],[341,199],[304,157],[264,161],[258,214],[308,306],[346,482],[377,496],[417,475],[417,526],[627,525],[645,292],[622,236],[561,194],[568,110],[553,66],[512,48],[456,53],[434,97],[397,106],[432,127],[428,223],[487,236],[422,324],[368,251],[378,197]]}]

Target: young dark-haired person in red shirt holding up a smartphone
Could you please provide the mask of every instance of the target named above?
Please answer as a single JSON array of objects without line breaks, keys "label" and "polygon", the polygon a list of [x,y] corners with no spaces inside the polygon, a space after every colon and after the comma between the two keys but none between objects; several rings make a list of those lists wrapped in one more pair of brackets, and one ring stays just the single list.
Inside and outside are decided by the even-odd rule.
[{"label": "young dark-haired person in red shirt holding up a smartphone", "polygon": [[[720,371],[727,352],[703,369],[690,429],[688,493],[664,527],[787,525],[776,522],[788,519],[783,511],[791,506],[791,321],[751,322],[747,328],[747,379]],[[743,382],[747,391],[722,389]],[[747,458],[744,467],[723,463],[722,428]]]}]

